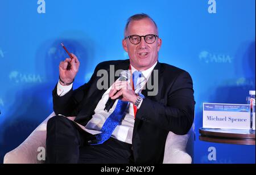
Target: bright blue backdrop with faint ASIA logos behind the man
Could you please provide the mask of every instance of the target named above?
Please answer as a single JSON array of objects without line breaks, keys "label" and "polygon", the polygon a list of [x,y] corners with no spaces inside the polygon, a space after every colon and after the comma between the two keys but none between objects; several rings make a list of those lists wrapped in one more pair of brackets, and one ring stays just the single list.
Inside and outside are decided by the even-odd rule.
[{"label": "bright blue backdrop with faint ASIA logos behind the man", "polygon": [[[255,146],[203,142],[198,132],[203,102],[245,104],[255,89],[255,0],[216,0],[216,13],[209,13],[208,0],[45,0],[45,5],[40,14],[38,0],[0,1],[0,162],[52,112],[58,65],[67,57],[60,42],[80,59],[77,88],[97,63],[128,58],[121,44],[126,19],[144,12],[163,39],[159,61],[193,78],[195,163],[255,163]],[[212,146],[215,161],[207,158]]]}]

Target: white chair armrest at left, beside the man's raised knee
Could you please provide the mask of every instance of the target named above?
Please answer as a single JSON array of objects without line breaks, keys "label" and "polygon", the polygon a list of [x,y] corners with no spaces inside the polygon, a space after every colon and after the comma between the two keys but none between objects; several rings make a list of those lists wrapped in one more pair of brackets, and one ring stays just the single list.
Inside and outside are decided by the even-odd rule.
[{"label": "white chair armrest at left, beside the man's raised knee", "polygon": [[46,148],[46,126],[49,118],[55,116],[51,113],[36,129],[14,150],[6,153],[4,164],[35,164],[44,163],[44,160],[38,160],[38,148]]}]

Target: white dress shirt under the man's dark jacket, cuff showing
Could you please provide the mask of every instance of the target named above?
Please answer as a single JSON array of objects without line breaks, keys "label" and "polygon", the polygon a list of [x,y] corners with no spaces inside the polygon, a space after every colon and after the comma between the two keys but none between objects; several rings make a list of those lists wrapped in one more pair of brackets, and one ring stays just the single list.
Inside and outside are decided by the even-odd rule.
[{"label": "white dress shirt under the man's dark jacket, cuff showing", "polygon": [[[149,69],[141,71],[142,79],[146,78],[146,80],[142,80],[142,82],[144,83],[143,86],[140,86],[141,89],[137,89],[135,92],[142,91],[142,89],[143,89],[142,87],[144,87],[144,85],[146,84],[156,63],[157,62],[155,62],[155,64],[153,66],[151,66]],[[131,72],[133,73],[134,71],[137,71],[137,70],[131,65]],[[130,83],[130,79],[128,81]],[[59,81],[57,84],[57,95],[59,95],[59,96],[65,95],[68,91],[71,90],[72,86],[73,86],[73,83],[70,84],[69,86],[62,86]],[[94,109],[95,114],[92,116],[92,119],[90,119],[90,121],[85,126],[85,130],[90,134],[101,133],[101,131],[100,131],[101,127],[104,125],[104,122],[110,116],[110,114],[114,111],[115,106],[117,105],[118,100],[115,101],[114,105],[109,110],[109,112],[106,112],[104,110],[105,104],[109,99],[110,89],[112,89],[112,87],[110,87],[104,93],[104,95],[102,95],[101,100],[98,102],[96,108]],[[142,101],[139,104],[138,109],[141,106]],[[135,118],[134,118],[133,104],[129,103],[129,108],[126,109],[125,117],[122,119],[121,123],[119,123],[119,125],[117,125],[117,127],[115,127],[115,129],[112,133],[112,137],[115,139],[118,139],[122,142],[131,144],[131,139],[133,138],[134,119]]]}]

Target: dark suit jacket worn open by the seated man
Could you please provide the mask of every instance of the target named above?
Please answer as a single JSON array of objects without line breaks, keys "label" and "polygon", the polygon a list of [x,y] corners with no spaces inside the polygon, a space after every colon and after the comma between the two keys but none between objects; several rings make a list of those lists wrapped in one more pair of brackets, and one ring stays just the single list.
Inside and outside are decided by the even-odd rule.
[{"label": "dark suit jacket worn open by the seated man", "polygon": [[[101,62],[88,83],[61,97],[55,87],[55,114],[77,116],[75,121],[85,126],[106,91],[97,89],[97,80],[101,78],[97,76],[97,71],[104,69],[109,73],[110,65],[114,65],[115,70],[128,70],[129,64],[129,59]],[[162,163],[168,132],[187,134],[193,123],[195,101],[191,76],[184,70],[159,62],[154,70],[158,70],[158,93],[148,96],[148,88],[142,91],[146,98],[135,118],[132,140],[135,163]],[[154,71],[150,78],[153,75]],[[108,87],[111,85],[108,84]]]}]

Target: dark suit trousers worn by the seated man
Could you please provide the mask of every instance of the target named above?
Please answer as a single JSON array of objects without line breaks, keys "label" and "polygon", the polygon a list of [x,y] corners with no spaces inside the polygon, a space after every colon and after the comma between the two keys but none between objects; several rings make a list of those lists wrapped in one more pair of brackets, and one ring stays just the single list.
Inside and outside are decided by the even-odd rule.
[{"label": "dark suit trousers worn by the seated man", "polygon": [[110,137],[91,146],[94,136],[64,116],[47,122],[46,163],[133,163],[131,144]]}]

